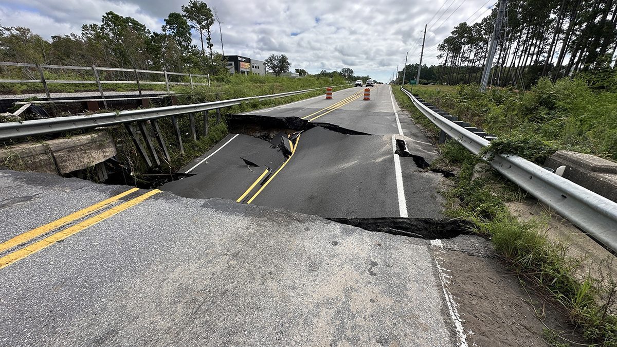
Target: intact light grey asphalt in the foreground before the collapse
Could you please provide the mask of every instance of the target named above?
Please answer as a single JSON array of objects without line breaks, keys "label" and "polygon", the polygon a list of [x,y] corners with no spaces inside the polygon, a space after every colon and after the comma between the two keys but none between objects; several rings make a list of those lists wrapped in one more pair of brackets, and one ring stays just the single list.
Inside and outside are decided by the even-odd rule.
[{"label": "intact light grey asphalt in the foreground before the collapse", "polygon": [[[130,188],[6,170],[0,186],[0,249]],[[135,190],[0,251],[0,345],[452,346],[438,271],[428,240]]]}]

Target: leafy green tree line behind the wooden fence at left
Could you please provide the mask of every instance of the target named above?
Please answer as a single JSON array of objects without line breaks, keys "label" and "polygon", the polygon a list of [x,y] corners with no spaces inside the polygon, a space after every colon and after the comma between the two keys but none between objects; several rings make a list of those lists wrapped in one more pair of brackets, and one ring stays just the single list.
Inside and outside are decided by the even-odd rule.
[{"label": "leafy green tree line behind the wooden fence at left", "polygon": [[[205,2],[190,0],[181,12],[170,13],[160,32],[150,31],[134,18],[107,12],[101,23],[82,25],[79,35],[54,35],[51,41],[29,28],[0,26],[0,61],[226,72],[223,54],[216,52],[212,43],[215,22],[220,30],[216,10]],[[199,47],[192,43],[191,30],[199,35]]]}]

